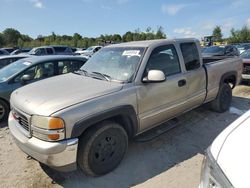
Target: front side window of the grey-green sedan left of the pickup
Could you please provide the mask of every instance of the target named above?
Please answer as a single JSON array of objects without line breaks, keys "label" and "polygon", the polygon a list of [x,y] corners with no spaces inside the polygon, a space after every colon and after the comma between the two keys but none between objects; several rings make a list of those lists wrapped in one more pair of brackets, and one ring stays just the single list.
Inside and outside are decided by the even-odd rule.
[{"label": "front side window of the grey-green sedan left of the pickup", "polygon": [[20,82],[23,75],[30,75],[31,80],[44,79],[54,76],[54,63],[47,62],[43,64],[35,65],[15,78],[15,82]]}]

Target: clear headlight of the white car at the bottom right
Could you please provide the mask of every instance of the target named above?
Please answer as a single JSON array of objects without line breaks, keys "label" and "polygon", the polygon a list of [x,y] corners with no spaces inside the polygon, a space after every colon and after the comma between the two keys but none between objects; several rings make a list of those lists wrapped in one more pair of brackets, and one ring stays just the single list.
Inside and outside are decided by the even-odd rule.
[{"label": "clear headlight of the white car at the bottom right", "polygon": [[210,148],[207,150],[207,155],[203,160],[201,182],[199,188],[230,188],[233,187],[226,178],[217,162],[213,158]]}]

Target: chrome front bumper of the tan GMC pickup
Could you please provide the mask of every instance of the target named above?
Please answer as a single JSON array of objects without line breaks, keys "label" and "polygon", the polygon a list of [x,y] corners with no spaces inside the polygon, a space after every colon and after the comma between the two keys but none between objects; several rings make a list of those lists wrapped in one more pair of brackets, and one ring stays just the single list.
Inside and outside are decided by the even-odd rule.
[{"label": "chrome front bumper of the tan GMC pickup", "polygon": [[78,138],[58,142],[46,142],[35,137],[25,136],[22,127],[9,115],[9,129],[17,146],[27,155],[59,171],[77,169]]}]

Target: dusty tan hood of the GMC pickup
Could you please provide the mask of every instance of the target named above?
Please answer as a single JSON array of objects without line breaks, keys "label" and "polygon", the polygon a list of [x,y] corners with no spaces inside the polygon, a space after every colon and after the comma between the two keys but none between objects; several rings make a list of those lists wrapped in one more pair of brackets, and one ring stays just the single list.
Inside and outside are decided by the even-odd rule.
[{"label": "dusty tan hood of the GMC pickup", "polygon": [[17,89],[11,95],[11,105],[30,115],[49,116],[69,106],[121,89],[120,83],[69,73]]}]

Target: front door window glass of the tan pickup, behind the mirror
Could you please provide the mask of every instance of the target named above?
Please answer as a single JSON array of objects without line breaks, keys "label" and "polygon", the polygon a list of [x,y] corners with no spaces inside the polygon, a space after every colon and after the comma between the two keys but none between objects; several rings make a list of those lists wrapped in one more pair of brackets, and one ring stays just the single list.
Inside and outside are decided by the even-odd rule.
[{"label": "front door window glass of the tan pickup, behind the mirror", "polygon": [[180,62],[174,45],[154,49],[149,57],[144,76],[148,74],[149,70],[161,70],[166,76],[180,73]]}]

